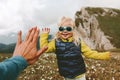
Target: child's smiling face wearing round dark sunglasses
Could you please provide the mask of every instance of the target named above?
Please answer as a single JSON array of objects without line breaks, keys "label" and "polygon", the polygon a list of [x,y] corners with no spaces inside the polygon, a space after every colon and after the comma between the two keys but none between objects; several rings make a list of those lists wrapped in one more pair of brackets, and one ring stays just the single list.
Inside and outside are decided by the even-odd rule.
[{"label": "child's smiling face wearing round dark sunglasses", "polygon": [[58,35],[61,39],[68,39],[73,36],[73,28],[71,26],[59,27]]}]

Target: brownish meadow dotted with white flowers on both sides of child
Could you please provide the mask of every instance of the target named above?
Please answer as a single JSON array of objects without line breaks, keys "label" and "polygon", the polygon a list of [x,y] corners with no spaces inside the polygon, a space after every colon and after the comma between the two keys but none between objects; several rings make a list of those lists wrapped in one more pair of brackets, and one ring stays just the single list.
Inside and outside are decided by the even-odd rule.
[{"label": "brownish meadow dotted with white flowers on both sides of child", "polygon": [[[0,61],[11,55],[0,54]],[[112,52],[110,60],[86,59],[87,80],[120,80],[120,53]],[[39,60],[27,67],[17,80],[64,80],[59,75],[56,56],[53,53],[43,54]]]}]

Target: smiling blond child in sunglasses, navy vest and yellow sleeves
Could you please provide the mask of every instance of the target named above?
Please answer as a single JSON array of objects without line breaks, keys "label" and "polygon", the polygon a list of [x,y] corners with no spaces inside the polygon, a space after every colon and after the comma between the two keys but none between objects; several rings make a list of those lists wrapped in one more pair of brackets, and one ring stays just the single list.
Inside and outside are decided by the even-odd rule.
[{"label": "smiling blond child in sunglasses, navy vest and yellow sleeves", "polygon": [[48,42],[49,28],[43,28],[40,35],[40,47],[48,46],[46,52],[55,52],[59,73],[65,80],[86,80],[85,63],[82,55],[93,59],[109,59],[109,52],[92,51],[80,40],[75,23],[69,17],[63,17],[58,23],[56,38]]}]

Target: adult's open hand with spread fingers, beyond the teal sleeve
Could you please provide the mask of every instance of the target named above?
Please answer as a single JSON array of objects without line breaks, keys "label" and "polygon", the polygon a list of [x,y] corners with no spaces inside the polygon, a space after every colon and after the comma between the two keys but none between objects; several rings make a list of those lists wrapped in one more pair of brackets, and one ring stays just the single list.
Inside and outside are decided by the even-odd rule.
[{"label": "adult's open hand with spread fingers, beyond the teal sleeve", "polygon": [[37,29],[37,27],[31,28],[28,31],[24,41],[22,41],[21,35],[22,32],[18,32],[18,39],[13,56],[22,56],[28,64],[33,64],[39,56],[47,50],[47,47],[43,47],[37,51],[36,45],[39,35],[39,29]]}]

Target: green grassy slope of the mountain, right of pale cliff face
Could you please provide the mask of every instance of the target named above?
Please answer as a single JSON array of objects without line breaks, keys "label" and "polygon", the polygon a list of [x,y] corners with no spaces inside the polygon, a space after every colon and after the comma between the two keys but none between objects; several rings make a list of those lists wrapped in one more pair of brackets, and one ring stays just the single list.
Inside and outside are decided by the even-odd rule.
[{"label": "green grassy slope of the mountain, right of pale cliff face", "polygon": [[108,36],[110,36],[110,41],[115,47],[120,48],[120,10],[111,9],[116,12],[116,16],[111,16],[111,13],[101,16],[104,10],[102,8],[86,8],[89,14],[98,14],[97,19],[99,22],[99,27]]}]

